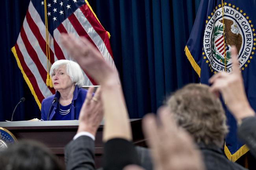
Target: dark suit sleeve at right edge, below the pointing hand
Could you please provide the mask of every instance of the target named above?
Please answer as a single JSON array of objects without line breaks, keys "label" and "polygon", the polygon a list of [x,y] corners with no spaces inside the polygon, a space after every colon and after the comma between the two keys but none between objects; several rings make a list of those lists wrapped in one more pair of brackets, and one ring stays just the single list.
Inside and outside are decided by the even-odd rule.
[{"label": "dark suit sleeve at right edge, below the pointing hand", "polygon": [[256,157],[256,117],[246,117],[237,129],[237,134]]}]

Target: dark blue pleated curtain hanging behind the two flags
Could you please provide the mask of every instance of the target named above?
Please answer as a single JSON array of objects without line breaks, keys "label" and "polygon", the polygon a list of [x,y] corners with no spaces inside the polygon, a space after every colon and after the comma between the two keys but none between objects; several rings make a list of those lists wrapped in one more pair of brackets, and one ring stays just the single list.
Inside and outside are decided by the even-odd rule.
[{"label": "dark blue pleated curtain hanging behind the two flags", "polygon": [[[110,42],[130,118],[157,108],[172,91],[198,82],[184,47],[200,0],[88,0]],[[0,121],[41,117],[40,110],[11,53],[30,0],[4,0],[0,6]],[[40,2],[40,1],[39,1]]]}]

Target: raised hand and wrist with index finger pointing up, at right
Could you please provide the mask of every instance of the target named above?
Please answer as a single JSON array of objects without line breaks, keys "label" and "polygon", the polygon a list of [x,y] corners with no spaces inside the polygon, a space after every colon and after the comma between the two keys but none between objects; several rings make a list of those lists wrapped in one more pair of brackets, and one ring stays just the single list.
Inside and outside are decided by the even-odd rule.
[{"label": "raised hand and wrist with index finger pointing up, at right", "polygon": [[250,107],[245,94],[235,46],[232,46],[231,54],[233,62],[232,73],[221,72],[213,75],[209,79],[212,84],[210,90],[213,93],[220,92],[230,112],[233,113],[237,120],[240,120],[247,116],[253,116],[255,113]]}]

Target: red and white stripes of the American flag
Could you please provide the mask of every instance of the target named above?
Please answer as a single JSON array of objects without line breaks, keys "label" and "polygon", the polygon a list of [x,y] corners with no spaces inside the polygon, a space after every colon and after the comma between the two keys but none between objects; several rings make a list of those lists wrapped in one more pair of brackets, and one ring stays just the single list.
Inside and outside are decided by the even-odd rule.
[{"label": "red and white stripes of the American flag", "polygon": [[[113,54],[111,51],[108,33],[98,22],[97,18],[87,4],[82,5],[68,18],[66,18],[54,30],[53,37],[49,37],[50,62],[56,60],[68,59],[73,60],[67,51],[60,44],[61,33],[72,33],[75,36],[85,36],[100,51],[104,59],[115,68]],[[45,24],[37,13],[32,2],[30,2],[23,26],[20,30],[17,43],[14,46],[16,50],[17,62],[20,62],[20,69],[24,77],[28,77],[36,96],[35,99],[41,101],[55,93],[53,88],[46,86],[47,76],[47,58],[46,58],[46,41],[45,41]],[[18,62],[18,63],[19,63]],[[116,69],[116,68],[115,68]],[[95,82],[85,75],[85,85],[93,85]],[[39,107],[41,105],[39,104]]]}]

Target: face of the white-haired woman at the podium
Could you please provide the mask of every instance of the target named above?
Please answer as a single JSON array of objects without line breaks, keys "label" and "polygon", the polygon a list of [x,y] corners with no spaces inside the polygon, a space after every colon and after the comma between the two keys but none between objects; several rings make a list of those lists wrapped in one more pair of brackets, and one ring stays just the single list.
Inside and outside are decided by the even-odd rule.
[{"label": "face of the white-haired woman at the podium", "polygon": [[73,83],[66,73],[66,66],[59,66],[58,69],[54,69],[52,73],[53,88],[58,91],[67,90],[73,86]]}]

